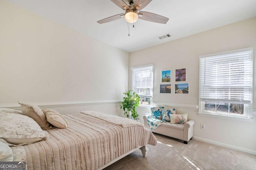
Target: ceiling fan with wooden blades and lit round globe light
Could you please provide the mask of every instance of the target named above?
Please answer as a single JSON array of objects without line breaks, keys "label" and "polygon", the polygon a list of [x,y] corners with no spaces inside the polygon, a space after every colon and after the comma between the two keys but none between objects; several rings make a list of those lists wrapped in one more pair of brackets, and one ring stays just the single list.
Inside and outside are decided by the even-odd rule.
[{"label": "ceiling fan with wooden blades and lit round globe light", "polygon": [[[156,22],[156,23],[167,23],[169,18],[166,18],[164,16],[160,16],[158,14],[153,14],[151,12],[144,12],[140,11],[142,10],[145,6],[147,6],[152,0],[111,0],[125,10],[124,14],[118,14],[115,16],[111,16],[108,18],[105,18],[103,20],[97,21],[98,23],[106,23],[114,20],[118,20],[121,18],[125,18],[125,20],[129,23],[134,23],[139,19],[141,20],[146,20],[146,21],[151,21],[151,22]],[[126,4],[127,1],[128,4]]]}]

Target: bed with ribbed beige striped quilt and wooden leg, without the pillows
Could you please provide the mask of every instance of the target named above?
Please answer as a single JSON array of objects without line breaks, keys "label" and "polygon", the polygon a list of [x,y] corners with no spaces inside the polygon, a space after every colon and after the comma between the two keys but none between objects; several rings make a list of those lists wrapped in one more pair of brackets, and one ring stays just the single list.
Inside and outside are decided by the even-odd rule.
[{"label": "bed with ribbed beige striped quilt and wooden leg, without the pillows", "polygon": [[68,128],[47,129],[47,140],[11,147],[13,161],[26,161],[28,170],[101,170],[137,149],[146,156],[146,145],[156,145],[149,129],[128,118],[96,111],[62,116]]}]

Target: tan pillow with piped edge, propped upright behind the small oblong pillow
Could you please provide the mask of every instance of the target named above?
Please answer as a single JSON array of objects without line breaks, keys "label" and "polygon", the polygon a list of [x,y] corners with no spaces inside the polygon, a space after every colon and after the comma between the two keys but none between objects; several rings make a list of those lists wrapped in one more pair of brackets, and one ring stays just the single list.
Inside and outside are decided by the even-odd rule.
[{"label": "tan pillow with piped edge, propped upright behind the small oblong pillow", "polygon": [[26,115],[34,119],[43,130],[53,128],[46,120],[46,116],[44,115],[40,107],[32,104],[19,104],[21,105],[22,115]]}]

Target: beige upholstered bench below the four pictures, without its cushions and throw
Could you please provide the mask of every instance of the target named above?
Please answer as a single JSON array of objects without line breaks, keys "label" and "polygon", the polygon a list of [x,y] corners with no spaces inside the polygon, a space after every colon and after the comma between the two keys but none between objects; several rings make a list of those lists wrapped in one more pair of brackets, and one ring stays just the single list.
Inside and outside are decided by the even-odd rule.
[{"label": "beige upholstered bench below the four pictures, without its cushions and throw", "polygon": [[[150,129],[147,123],[146,115],[143,116],[143,119],[144,126]],[[152,132],[180,139],[183,140],[184,144],[188,144],[188,141],[192,139],[194,135],[194,124],[195,122],[193,120],[187,121],[184,124],[162,122],[161,125],[158,128],[154,129]]]}]

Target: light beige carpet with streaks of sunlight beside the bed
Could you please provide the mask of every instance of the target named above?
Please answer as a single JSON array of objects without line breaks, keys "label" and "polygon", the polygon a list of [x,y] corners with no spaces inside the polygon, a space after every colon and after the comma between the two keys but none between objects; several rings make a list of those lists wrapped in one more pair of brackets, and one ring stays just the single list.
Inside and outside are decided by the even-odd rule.
[{"label": "light beige carpet with streaks of sunlight beside the bed", "polygon": [[154,133],[158,143],[129,154],[104,170],[256,170],[256,155],[198,140],[183,141]]}]

